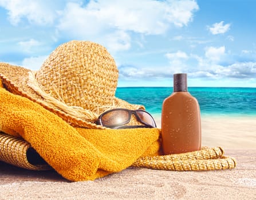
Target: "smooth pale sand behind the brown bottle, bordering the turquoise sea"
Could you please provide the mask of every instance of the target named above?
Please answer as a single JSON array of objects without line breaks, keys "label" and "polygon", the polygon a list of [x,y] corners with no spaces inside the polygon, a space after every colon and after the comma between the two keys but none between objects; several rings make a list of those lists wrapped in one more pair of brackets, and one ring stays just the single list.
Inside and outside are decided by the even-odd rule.
[{"label": "smooth pale sand behind the brown bottle, bordering the turquoise sea", "polygon": [[[161,127],[161,115],[153,115]],[[202,115],[202,146],[256,149],[256,116]]]}]

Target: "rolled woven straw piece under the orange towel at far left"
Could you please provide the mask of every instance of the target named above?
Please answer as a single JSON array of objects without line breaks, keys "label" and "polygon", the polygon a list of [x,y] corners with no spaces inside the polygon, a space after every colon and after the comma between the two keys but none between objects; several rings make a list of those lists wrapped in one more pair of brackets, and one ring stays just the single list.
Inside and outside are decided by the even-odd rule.
[{"label": "rolled woven straw piece under the orange towel at far left", "polygon": [[29,170],[50,169],[49,165],[33,165],[28,161],[27,152],[30,148],[31,145],[22,138],[0,132],[0,161]]}]

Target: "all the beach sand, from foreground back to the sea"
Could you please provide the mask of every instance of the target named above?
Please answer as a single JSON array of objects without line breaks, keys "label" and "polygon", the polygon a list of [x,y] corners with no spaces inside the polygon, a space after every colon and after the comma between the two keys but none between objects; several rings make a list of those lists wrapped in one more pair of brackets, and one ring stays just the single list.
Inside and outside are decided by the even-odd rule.
[{"label": "all the beach sand, from foreground back to the sea", "polygon": [[[158,127],[161,119],[155,117]],[[255,199],[256,118],[202,116],[202,145],[221,146],[237,167],[215,171],[128,168],[94,181],[0,162],[0,199]]]}]

